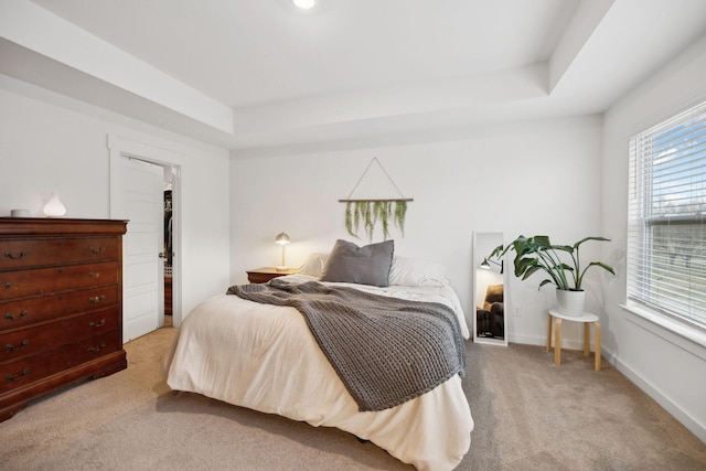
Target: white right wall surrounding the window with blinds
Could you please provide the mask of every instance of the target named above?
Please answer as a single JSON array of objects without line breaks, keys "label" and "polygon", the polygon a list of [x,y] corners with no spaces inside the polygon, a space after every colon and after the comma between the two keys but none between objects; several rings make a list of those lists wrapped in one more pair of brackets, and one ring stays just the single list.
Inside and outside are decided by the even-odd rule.
[{"label": "white right wall surrounding the window with blinds", "polygon": [[642,389],[706,440],[706,349],[620,308],[625,302],[628,139],[706,99],[706,38],[613,106],[605,119],[602,226],[619,277],[601,319],[605,352]]}]

